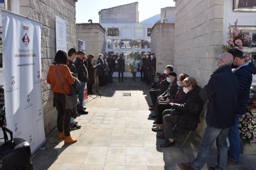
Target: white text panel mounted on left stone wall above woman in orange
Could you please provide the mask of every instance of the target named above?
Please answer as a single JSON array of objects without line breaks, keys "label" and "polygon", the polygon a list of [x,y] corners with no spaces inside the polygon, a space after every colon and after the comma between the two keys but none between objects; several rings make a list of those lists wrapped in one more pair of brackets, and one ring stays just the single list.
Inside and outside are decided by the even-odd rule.
[{"label": "white text panel mounted on left stone wall above woman in orange", "polygon": [[56,52],[63,50],[67,52],[67,22],[56,16]]}]

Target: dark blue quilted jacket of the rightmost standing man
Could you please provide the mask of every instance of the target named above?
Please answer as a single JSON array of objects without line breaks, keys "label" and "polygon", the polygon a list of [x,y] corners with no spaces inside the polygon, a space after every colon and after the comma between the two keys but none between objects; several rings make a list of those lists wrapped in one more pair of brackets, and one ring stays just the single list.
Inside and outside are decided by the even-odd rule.
[{"label": "dark blue quilted jacket of the rightmost standing man", "polygon": [[256,68],[252,62],[246,62],[234,70],[239,81],[239,94],[236,113],[243,115],[246,112],[252,84],[252,74],[256,74]]}]

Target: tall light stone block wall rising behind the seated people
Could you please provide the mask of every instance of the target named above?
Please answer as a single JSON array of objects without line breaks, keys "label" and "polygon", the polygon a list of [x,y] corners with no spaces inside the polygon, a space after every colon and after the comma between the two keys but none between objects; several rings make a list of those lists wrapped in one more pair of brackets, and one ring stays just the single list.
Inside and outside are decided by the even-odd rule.
[{"label": "tall light stone block wall rising behind the seated people", "polygon": [[[223,36],[222,0],[177,0],[175,16],[174,67],[204,87],[215,70]],[[202,136],[205,115],[197,131]]]}]

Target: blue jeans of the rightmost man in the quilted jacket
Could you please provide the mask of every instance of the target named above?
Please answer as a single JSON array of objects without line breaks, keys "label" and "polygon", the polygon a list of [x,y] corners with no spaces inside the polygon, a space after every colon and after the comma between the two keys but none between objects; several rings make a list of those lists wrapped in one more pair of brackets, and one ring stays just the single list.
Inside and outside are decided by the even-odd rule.
[{"label": "blue jeans of the rightmost man in the quilted jacket", "polygon": [[230,143],[229,147],[229,158],[235,161],[239,161],[239,155],[241,150],[241,141],[240,136],[238,132],[238,124],[239,124],[239,118],[241,118],[242,115],[236,114],[235,123],[232,127],[229,128],[228,131],[228,140]]}]

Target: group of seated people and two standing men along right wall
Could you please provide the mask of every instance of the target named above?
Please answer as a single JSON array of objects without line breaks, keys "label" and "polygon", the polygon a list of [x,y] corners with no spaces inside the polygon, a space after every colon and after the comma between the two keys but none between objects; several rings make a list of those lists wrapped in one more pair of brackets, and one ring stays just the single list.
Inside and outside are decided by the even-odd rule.
[{"label": "group of seated people and two standing men along right wall", "polygon": [[180,169],[202,169],[214,141],[218,149],[218,165],[209,169],[226,169],[227,164],[239,164],[241,141],[238,124],[246,112],[252,74],[256,74],[255,66],[244,62],[243,53],[236,48],[218,56],[216,70],[203,88],[186,73],[177,78],[173,66],[166,66],[163,77],[149,91],[152,101],[149,110],[154,111],[155,115],[151,117],[156,118],[152,131],[162,131],[157,138],[165,139],[161,147],[175,146],[175,128],[196,129],[207,102],[207,126],[198,155],[191,163],[181,163]]}]

